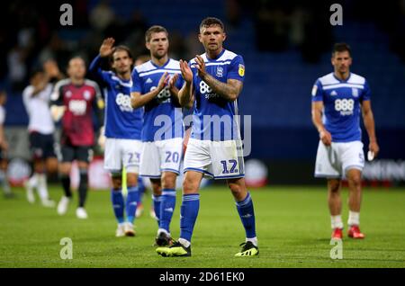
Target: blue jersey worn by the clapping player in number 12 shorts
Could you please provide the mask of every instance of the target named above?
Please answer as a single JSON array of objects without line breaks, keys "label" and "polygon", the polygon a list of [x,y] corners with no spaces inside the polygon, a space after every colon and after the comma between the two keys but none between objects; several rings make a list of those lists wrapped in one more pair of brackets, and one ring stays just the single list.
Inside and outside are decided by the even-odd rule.
[{"label": "blue jersey worn by the clapping player in number 12 shorts", "polygon": [[[223,49],[217,58],[201,56],[208,74],[222,83],[228,79],[243,82],[245,64],[243,58],[227,49]],[[240,139],[238,126],[238,100],[229,102],[212,92],[211,87],[197,74],[195,59],[189,63],[193,71],[193,129],[191,138],[200,140],[223,141]]]}]

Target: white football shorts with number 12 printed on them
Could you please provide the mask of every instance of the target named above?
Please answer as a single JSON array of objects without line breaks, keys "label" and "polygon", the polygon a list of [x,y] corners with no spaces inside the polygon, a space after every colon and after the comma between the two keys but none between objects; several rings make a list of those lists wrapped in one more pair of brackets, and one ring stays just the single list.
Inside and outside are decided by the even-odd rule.
[{"label": "white football shorts with number 12 printed on them", "polygon": [[189,139],[184,155],[184,173],[187,171],[200,172],[214,179],[244,177],[241,141]]}]

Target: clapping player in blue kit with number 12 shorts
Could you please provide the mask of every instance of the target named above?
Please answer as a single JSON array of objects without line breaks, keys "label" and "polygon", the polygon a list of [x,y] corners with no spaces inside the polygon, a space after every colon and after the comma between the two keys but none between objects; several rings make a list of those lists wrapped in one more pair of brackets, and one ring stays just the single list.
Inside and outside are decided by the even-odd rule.
[{"label": "clapping player in blue kit with number 12 shorts", "polygon": [[[184,155],[180,238],[172,246],[158,247],[162,256],[190,256],[193,227],[200,209],[203,176],[225,179],[236,202],[246,240],[236,256],[258,255],[255,211],[244,178],[243,147],[238,126],[238,96],[243,88],[243,58],[222,46],[223,23],[202,20],[198,35],[205,53],[180,60],[184,85],[178,93],[184,107],[193,106],[193,127]],[[212,128],[213,127],[213,128]]]}]

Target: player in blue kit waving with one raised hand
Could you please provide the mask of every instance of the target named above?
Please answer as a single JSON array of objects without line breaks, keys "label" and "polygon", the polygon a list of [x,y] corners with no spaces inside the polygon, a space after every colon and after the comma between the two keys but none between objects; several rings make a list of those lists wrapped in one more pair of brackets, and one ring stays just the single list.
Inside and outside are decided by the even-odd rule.
[{"label": "player in blue kit waving with one raised hand", "polygon": [[[141,151],[140,129],[142,111],[130,105],[133,58],[125,46],[114,47],[114,39],[103,40],[100,54],[94,58],[89,71],[104,87],[104,168],[112,175],[112,208],[118,221],[116,237],[133,237],[133,223],[139,197],[138,174]],[[102,70],[108,60],[110,71]],[[127,198],[122,195],[122,168],[127,173]],[[126,219],[124,219],[126,210]]]}]

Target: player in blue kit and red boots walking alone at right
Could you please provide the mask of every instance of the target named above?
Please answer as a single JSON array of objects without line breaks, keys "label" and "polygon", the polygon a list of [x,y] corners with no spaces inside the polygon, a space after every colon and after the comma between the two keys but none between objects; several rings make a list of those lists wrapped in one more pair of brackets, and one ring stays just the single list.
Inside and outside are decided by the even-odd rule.
[{"label": "player in blue kit and red boots walking alone at right", "polygon": [[364,238],[359,228],[362,170],[365,165],[360,115],[370,142],[369,160],[379,152],[370,86],[365,77],[350,72],[351,49],[346,43],[335,44],[331,62],[334,72],[318,78],[312,88],[312,121],[320,133],[315,176],[328,180],[332,238],[343,237],[340,191],[344,178],[349,187],[347,235]]}]

